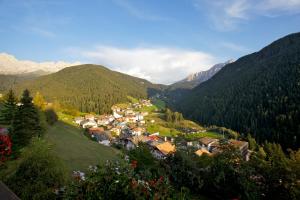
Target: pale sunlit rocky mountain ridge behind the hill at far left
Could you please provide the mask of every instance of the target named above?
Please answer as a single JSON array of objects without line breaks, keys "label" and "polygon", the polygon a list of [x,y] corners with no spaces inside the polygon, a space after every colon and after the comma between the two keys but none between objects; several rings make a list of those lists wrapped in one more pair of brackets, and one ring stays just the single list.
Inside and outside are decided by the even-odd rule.
[{"label": "pale sunlit rocky mountain ridge behind the hill at far left", "polygon": [[0,53],[0,73],[1,74],[21,74],[37,70],[45,72],[56,72],[65,67],[79,65],[80,62],[68,63],[64,61],[57,62],[34,62],[31,60],[18,60],[13,55]]}]

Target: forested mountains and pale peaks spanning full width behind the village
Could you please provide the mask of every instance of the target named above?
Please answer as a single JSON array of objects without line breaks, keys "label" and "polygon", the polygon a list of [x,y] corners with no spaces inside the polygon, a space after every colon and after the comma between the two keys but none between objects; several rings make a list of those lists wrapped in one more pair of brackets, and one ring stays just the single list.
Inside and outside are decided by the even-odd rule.
[{"label": "forested mountains and pale peaks spanning full width behind the village", "polygon": [[[8,63],[15,62],[11,60]],[[51,69],[57,71],[60,67],[64,65]],[[10,68],[0,69],[3,72]],[[14,88],[20,94],[28,88],[33,93],[41,92],[48,101],[97,113],[109,112],[111,105],[127,101],[128,96],[159,94],[169,107],[204,125],[251,133],[260,143],[269,140],[284,147],[300,146],[300,33],[170,86],[100,65],[67,67],[47,75],[34,73],[39,69],[28,68],[28,76],[1,75],[0,92]],[[49,67],[42,69],[49,73]]]}]

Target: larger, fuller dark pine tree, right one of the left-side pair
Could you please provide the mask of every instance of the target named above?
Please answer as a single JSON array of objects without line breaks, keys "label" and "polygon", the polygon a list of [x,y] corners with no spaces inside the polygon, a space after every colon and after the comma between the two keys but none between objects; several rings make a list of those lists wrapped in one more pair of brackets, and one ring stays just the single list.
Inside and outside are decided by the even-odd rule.
[{"label": "larger, fuller dark pine tree, right one of the left-side pair", "polygon": [[17,148],[29,144],[34,136],[41,136],[42,127],[39,113],[32,103],[28,90],[23,92],[21,105],[18,107],[12,123],[12,139]]}]

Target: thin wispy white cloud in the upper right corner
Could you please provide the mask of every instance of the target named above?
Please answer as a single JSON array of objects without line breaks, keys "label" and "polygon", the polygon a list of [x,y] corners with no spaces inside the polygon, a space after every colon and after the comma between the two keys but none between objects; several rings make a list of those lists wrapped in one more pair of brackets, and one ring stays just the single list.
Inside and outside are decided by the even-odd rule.
[{"label": "thin wispy white cloud in the upper right corner", "polygon": [[257,16],[300,13],[300,0],[194,0],[194,6],[198,10],[205,7],[214,28],[220,31],[235,30]]}]

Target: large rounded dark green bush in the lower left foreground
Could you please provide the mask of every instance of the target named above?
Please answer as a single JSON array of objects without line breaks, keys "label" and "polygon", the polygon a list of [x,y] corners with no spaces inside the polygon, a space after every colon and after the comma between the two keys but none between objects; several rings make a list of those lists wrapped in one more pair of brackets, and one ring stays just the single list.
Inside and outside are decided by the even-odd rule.
[{"label": "large rounded dark green bush in the lower left foreground", "polygon": [[49,151],[49,145],[40,139],[22,155],[23,160],[8,181],[8,186],[21,198],[28,200],[56,199],[55,189],[66,183],[66,172],[61,161]]}]

